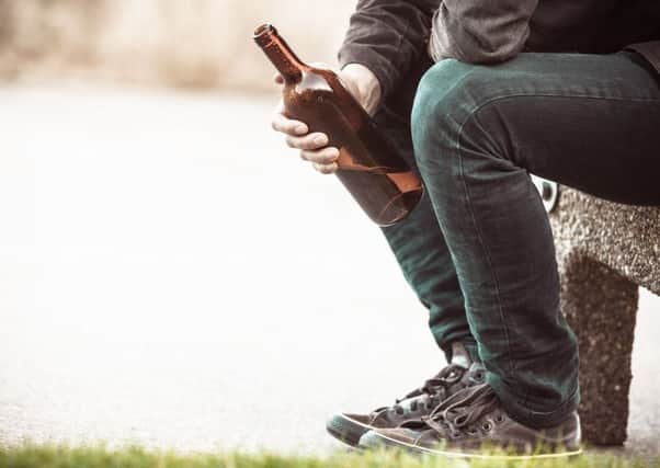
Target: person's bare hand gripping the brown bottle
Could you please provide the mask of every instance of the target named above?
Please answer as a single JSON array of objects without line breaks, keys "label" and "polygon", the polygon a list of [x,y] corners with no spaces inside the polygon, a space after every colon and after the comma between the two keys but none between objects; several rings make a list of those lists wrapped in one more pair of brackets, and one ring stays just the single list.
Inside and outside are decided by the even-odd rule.
[{"label": "person's bare hand gripping the brown bottle", "polygon": [[[319,67],[320,68],[320,67]],[[380,83],[376,76],[365,66],[349,64],[337,73],[349,92],[372,115],[380,101]],[[275,83],[283,84],[282,76],[275,75]],[[300,158],[311,162],[314,169],[323,174],[337,171],[339,149],[328,146],[328,135],[309,133],[309,126],[299,121],[288,118],[284,113],[282,101],[277,104],[272,119],[275,130],[286,135],[286,144],[300,150]]]}]

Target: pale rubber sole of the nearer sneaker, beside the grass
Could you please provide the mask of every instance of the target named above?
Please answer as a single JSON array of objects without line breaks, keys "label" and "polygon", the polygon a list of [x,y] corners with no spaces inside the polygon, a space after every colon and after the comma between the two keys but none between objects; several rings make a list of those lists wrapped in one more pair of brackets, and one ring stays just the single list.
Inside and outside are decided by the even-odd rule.
[{"label": "pale rubber sole of the nearer sneaker, beside the grass", "polygon": [[419,445],[412,445],[403,441],[397,441],[388,437],[387,435],[380,434],[376,431],[369,431],[363,437],[361,437],[357,448],[365,450],[374,450],[382,448],[398,448],[405,449],[410,453],[421,455],[439,455],[447,458],[465,458],[465,459],[482,459],[482,460],[536,460],[544,458],[559,458],[559,457],[574,457],[582,453],[582,448],[570,452],[551,453],[551,454],[536,454],[536,455],[487,455],[487,454],[475,454],[468,452],[453,452],[442,450],[436,448],[421,447]]}]

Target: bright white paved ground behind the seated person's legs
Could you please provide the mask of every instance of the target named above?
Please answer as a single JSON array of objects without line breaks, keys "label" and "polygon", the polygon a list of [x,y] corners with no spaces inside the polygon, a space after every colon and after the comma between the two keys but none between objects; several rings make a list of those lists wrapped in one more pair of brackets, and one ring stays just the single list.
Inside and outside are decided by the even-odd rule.
[{"label": "bright white paved ground behind the seated person's legs", "polygon": [[[271,104],[0,88],[0,442],[325,453],[333,410],[436,372],[387,244]],[[658,309],[645,294],[637,449],[660,425]]]}]

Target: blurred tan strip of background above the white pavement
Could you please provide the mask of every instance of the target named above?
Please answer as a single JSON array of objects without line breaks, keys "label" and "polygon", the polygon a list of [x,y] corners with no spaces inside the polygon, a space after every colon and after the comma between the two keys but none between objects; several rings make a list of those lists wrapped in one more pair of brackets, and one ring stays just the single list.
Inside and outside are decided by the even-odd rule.
[{"label": "blurred tan strip of background above the white pavement", "polygon": [[332,62],[354,2],[0,0],[5,80],[84,78],[189,89],[270,89],[254,27]]}]

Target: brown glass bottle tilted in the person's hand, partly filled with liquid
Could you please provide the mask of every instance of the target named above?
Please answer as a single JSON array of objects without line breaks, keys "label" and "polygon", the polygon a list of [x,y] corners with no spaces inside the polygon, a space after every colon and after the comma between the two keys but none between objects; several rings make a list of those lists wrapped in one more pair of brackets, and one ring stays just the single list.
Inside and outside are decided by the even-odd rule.
[{"label": "brown glass bottle tilted in the person's hand, partly filled with liquid", "polygon": [[379,226],[403,219],[423,189],[414,172],[331,70],[304,64],[270,24],[254,41],[284,78],[286,115],[328,135],[339,149],[337,176]]}]

